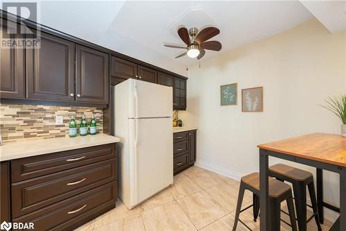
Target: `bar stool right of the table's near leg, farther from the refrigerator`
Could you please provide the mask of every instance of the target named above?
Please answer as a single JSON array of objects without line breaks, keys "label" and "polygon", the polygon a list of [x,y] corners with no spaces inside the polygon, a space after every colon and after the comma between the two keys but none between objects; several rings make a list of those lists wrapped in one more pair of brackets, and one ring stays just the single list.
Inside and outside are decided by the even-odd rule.
[{"label": "bar stool right of the table's near leg, farther from the refrigerator", "polygon": [[[318,230],[322,230],[318,219],[318,209],[313,176],[309,171],[297,169],[286,164],[275,164],[269,167],[269,176],[275,177],[282,182],[291,182],[295,199],[295,212],[298,217],[298,228],[300,231],[307,230],[307,223],[315,218]],[[307,220],[307,187],[309,189],[313,215]]]}]

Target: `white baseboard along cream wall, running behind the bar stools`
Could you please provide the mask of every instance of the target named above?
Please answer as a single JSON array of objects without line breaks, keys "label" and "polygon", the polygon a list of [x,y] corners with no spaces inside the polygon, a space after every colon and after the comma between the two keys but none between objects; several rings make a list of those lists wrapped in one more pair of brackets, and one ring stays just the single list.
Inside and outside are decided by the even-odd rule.
[{"label": "white baseboard along cream wall, running behind the bar stools", "polygon": [[[230,169],[227,169],[222,166],[218,166],[217,164],[212,164],[209,162],[205,162],[202,160],[197,160],[194,165],[201,167],[202,169],[207,169],[209,171],[221,174],[223,176],[226,176],[228,178],[232,178],[233,180],[240,181],[240,178],[244,176],[242,173],[237,173],[235,171],[232,171]],[[311,205],[311,200],[309,198],[309,194],[307,194],[307,203]],[[307,207],[307,209],[311,209],[310,207]],[[334,212],[330,209],[325,208],[325,219],[328,221],[334,222],[338,218],[339,214],[337,212]],[[314,221],[311,221],[314,222]]]}]

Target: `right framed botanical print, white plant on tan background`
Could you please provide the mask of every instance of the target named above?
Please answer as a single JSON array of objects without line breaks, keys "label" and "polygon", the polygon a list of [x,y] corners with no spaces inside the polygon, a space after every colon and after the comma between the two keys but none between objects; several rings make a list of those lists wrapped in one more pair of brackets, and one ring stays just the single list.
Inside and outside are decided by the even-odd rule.
[{"label": "right framed botanical print, white plant on tan background", "polygon": [[242,112],[263,112],[263,87],[242,89]]}]

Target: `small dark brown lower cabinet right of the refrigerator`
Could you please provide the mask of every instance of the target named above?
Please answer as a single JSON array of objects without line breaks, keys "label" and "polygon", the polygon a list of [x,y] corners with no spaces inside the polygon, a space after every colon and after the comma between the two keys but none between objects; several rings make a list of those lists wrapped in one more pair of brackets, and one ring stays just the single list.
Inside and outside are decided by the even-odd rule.
[{"label": "small dark brown lower cabinet right of the refrigerator", "polygon": [[177,132],[173,135],[174,175],[188,169],[196,162],[197,130]]}]

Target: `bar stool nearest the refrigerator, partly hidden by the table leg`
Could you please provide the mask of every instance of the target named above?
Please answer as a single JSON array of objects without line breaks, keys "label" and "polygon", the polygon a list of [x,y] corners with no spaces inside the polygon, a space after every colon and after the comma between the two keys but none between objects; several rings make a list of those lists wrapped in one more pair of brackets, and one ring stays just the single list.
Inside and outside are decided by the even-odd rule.
[{"label": "bar stool nearest the refrigerator, partly hidden by the table leg", "polygon": [[[242,202],[244,198],[245,189],[248,189],[253,193],[253,205],[242,209]],[[244,210],[253,206],[253,218],[256,221],[258,212],[260,209],[260,173],[251,173],[247,176],[242,177],[239,187],[239,195],[237,202],[237,209],[235,212],[235,223],[233,225],[233,231],[237,229],[237,223],[240,221],[243,225],[248,228],[248,226],[239,219],[239,214],[244,212]],[[271,230],[277,231],[280,230],[280,210],[282,201],[286,200],[287,207],[289,209],[289,219],[291,220],[291,227],[293,231],[297,231],[297,225],[295,223],[295,214],[293,206],[293,196],[291,187],[280,180],[275,180],[269,178],[269,217],[271,217]],[[289,225],[289,224],[288,224]],[[251,230],[250,228],[248,228]]]}]

